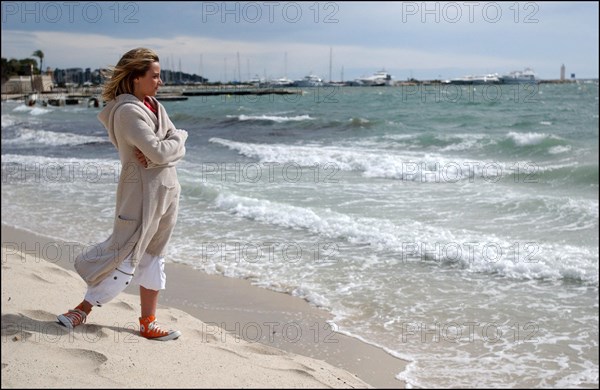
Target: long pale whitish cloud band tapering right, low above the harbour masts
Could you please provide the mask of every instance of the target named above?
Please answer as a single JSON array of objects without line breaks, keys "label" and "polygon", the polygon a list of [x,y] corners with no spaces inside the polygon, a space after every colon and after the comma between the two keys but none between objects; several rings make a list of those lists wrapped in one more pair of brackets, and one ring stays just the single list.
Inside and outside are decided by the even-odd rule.
[{"label": "long pale whitish cloud band tapering right, low above the harbour masts", "polygon": [[[237,77],[237,53],[240,53],[242,79],[259,74],[267,77],[282,77],[286,72],[290,78],[300,78],[309,72],[328,77],[330,47],[326,44],[297,42],[247,42],[217,38],[175,36],[157,38],[115,38],[100,34],[73,34],[53,31],[5,31],[2,37],[3,52],[11,57],[29,57],[40,48],[45,53],[48,66],[58,68],[98,68],[114,65],[127,50],[145,46],[153,48],[161,57],[163,68],[200,73],[200,59],[205,74],[211,80],[235,79]],[[4,56],[4,53],[3,53]],[[480,72],[500,71],[522,67],[519,61],[477,53],[453,54],[443,51],[417,49],[395,49],[364,45],[336,45],[333,47],[333,79],[339,78],[344,67],[346,79],[370,74],[380,68],[394,74],[396,79],[405,79],[411,69],[433,70],[441,68],[463,68]],[[227,72],[227,74],[225,74]],[[434,72],[434,73],[435,73]],[[450,77],[451,75],[446,75]]]}]

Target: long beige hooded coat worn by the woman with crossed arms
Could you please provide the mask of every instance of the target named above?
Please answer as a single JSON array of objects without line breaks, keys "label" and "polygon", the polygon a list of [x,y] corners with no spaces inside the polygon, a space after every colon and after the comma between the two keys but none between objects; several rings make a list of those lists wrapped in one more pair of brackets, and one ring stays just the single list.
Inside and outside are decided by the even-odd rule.
[{"label": "long beige hooded coat worn by the woman with crossed arms", "polygon": [[[98,119],[108,130],[121,160],[113,232],[100,244],[86,246],[75,269],[90,286],[98,284],[132,253],[164,255],[177,220],[181,186],[175,164],[185,155],[187,132],[175,128],[154,98],[158,118],[133,95],[122,94],[106,105]],[[149,164],[135,158],[137,147]]]}]

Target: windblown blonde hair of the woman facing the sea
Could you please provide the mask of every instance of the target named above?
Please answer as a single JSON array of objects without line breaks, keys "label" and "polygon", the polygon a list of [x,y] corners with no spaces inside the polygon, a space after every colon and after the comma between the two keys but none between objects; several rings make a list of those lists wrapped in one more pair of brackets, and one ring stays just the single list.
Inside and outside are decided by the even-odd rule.
[{"label": "windblown blonde hair of the woman facing the sea", "polygon": [[112,68],[111,78],[104,84],[102,98],[110,102],[123,93],[133,95],[133,80],[144,76],[154,62],[159,62],[158,55],[144,47],[123,54],[117,66]]}]

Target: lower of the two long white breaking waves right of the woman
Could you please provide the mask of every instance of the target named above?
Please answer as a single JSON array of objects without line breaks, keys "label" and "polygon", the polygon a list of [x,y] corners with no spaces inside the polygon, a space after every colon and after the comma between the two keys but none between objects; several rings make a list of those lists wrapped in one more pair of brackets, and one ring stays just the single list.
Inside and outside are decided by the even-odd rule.
[{"label": "lower of the two long white breaking waves right of the woman", "polygon": [[289,229],[304,229],[350,244],[392,251],[405,261],[458,266],[466,272],[499,274],[517,279],[580,280],[598,283],[597,248],[510,241],[495,235],[427,226],[418,221],[356,217],[265,199],[219,194],[216,206],[250,220]]}]

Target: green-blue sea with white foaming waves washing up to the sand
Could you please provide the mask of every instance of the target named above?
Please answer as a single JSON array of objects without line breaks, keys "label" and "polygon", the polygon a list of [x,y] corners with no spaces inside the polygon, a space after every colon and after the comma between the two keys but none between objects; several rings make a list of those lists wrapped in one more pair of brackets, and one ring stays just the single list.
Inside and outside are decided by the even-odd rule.
[{"label": "green-blue sea with white foaming waves washing up to the sand", "polygon": [[[163,104],[189,133],[167,261],[327,310],[408,387],[598,387],[597,80]],[[2,102],[3,223],[108,237],[100,110]]]}]

